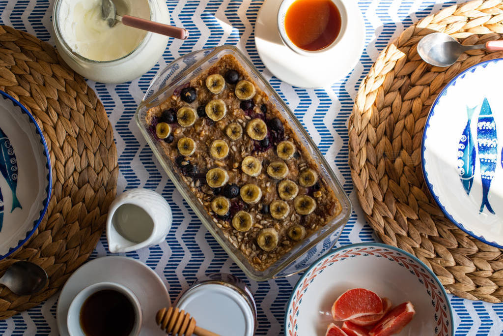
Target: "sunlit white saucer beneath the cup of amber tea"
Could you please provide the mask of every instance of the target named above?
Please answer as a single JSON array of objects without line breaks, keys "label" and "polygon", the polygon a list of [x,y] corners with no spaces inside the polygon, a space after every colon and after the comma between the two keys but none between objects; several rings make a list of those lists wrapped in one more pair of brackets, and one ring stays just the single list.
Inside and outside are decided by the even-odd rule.
[{"label": "sunlit white saucer beneath the cup of amber tea", "polygon": [[281,40],[277,24],[281,1],[266,1],[255,25],[255,44],[267,69],[299,88],[327,87],[347,75],[358,63],[365,45],[365,23],[356,2],[344,2],[348,27],[341,41],[320,56],[302,56]]}]

